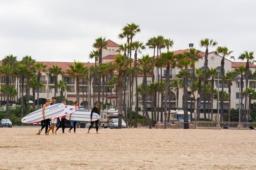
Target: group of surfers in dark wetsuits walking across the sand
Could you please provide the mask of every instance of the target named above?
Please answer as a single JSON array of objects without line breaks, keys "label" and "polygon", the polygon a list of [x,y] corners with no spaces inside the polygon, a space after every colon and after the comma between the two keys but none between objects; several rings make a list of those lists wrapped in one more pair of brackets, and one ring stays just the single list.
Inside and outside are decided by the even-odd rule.
[{"label": "group of surfers in dark wetsuits walking across the sand", "polygon": [[[62,102],[64,105],[66,105],[66,102],[63,101]],[[52,133],[53,134],[57,134],[57,131],[59,128],[62,128],[62,133],[65,132],[65,128],[66,128],[66,116],[62,116],[60,118],[52,118],[52,119],[45,119],[45,115],[44,115],[44,110],[46,107],[50,106],[50,105],[53,105],[53,104],[56,104],[56,97],[52,97],[52,101],[50,98],[48,98],[46,100],[46,103],[43,105],[43,109],[42,109],[42,114],[43,114],[43,120],[41,121],[41,129],[39,129],[39,131],[37,132],[38,135],[41,134],[41,131],[43,130],[43,128],[45,128],[45,135],[49,135],[49,132],[50,130],[52,130]],[[75,111],[76,110],[79,110],[78,108],[78,101],[75,100],[74,102],[74,106],[75,106]],[[98,132],[98,129],[99,129],[99,120],[96,120],[96,121],[92,121],[92,113],[98,113],[99,114],[100,110],[99,110],[99,104],[98,103],[95,103],[94,104],[94,107],[93,109],[91,110],[91,125],[89,126],[89,129],[88,129],[88,132],[87,133],[90,133],[90,129],[93,127],[94,125],[94,122],[96,123],[96,133],[97,134],[100,134]],[[71,121],[71,115],[69,116],[69,121]],[[57,123],[57,121],[59,122],[59,124],[56,126],[56,130],[54,131],[54,127]],[[69,128],[68,132],[70,133],[71,130],[74,128],[74,133],[75,133],[75,130],[76,130],[76,121],[71,121],[71,127]],[[50,125],[51,124],[51,125]],[[49,126],[49,129],[48,129],[48,126]]]}]

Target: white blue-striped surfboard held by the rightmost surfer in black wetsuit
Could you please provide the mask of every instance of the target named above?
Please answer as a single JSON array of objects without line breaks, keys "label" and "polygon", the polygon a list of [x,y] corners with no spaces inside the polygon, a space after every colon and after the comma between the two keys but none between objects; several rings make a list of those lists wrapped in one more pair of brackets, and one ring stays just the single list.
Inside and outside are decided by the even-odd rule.
[{"label": "white blue-striped surfboard held by the rightmost surfer in black wetsuit", "polygon": [[[85,111],[85,110],[77,110],[71,115],[66,116],[66,119],[69,120],[69,117],[71,116],[71,120],[77,121],[77,122],[91,122],[91,112]],[[96,121],[100,119],[100,115],[97,113],[92,113],[92,121]]]}]

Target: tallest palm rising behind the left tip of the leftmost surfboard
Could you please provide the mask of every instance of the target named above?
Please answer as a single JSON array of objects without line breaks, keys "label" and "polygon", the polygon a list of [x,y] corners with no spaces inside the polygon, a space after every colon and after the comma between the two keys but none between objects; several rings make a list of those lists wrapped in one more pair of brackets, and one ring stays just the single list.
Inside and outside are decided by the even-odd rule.
[{"label": "tallest palm rising behind the left tip of the leftmost surfboard", "polygon": [[[29,103],[29,96],[30,96],[30,87],[29,87],[29,80],[30,78],[33,78],[35,75],[35,69],[34,69],[34,64],[35,61],[31,56],[26,55],[25,57],[22,58],[21,63],[27,66],[27,85],[26,85],[26,97],[27,97],[27,103]],[[29,112],[29,107],[27,107],[27,113]]]}]

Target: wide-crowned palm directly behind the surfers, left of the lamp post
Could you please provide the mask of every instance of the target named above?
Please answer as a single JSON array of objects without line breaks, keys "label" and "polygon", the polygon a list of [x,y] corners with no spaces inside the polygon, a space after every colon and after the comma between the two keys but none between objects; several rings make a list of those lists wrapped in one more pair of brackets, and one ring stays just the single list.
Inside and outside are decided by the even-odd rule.
[{"label": "wide-crowned palm directly behind the surfers, left of the lamp post", "polygon": [[83,77],[87,72],[88,72],[88,68],[84,66],[84,63],[81,62],[76,62],[74,60],[74,65],[69,65],[69,70],[67,70],[67,74],[69,74],[70,76],[74,76],[75,77],[75,81],[76,81],[76,100],[79,103],[79,77]]}]

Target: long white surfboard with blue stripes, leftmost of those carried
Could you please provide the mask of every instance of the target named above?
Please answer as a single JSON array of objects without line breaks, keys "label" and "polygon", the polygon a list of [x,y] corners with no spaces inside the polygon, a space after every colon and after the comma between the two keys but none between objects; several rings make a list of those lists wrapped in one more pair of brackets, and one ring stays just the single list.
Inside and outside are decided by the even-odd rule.
[{"label": "long white surfboard with blue stripes, leftmost of those carried", "polygon": [[[50,117],[56,116],[60,114],[65,108],[63,103],[53,104],[45,108],[44,116],[45,119],[49,119]],[[27,116],[21,119],[22,123],[35,123],[43,120],[43,109],[36,110],[32,113],[29,113]]]}]

